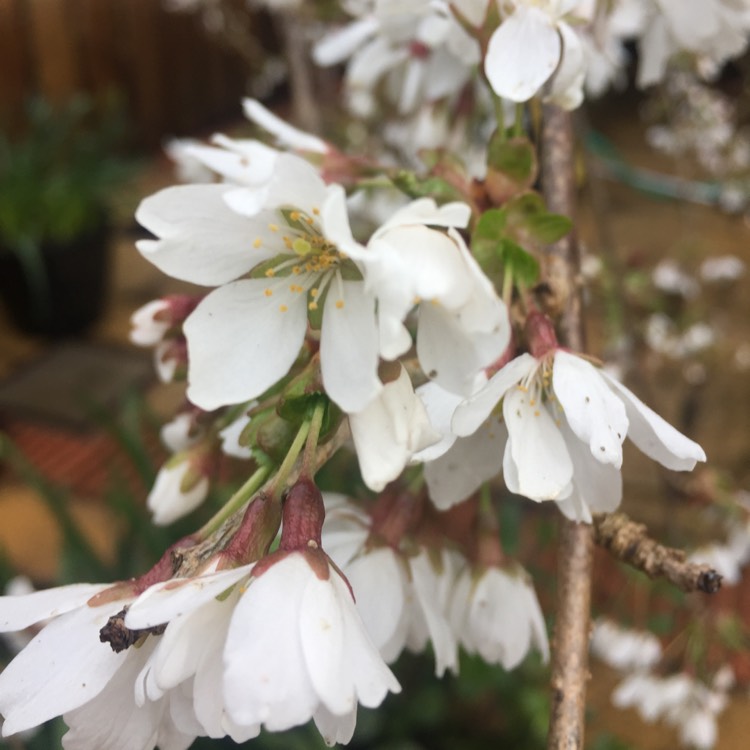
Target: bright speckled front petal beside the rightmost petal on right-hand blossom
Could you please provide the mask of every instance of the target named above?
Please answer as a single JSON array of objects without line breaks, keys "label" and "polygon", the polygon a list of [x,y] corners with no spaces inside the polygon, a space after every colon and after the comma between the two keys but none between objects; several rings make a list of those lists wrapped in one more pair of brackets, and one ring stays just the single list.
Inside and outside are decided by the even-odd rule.
[{"label": "bright speckled front petal beside the rightmost petal on right-hand blossom", "polygon": [[589,446],[594,458],[619,469],[628,418],[622,401],[607,387],[600,370],[558,350],[552,387],[570,428]]}]

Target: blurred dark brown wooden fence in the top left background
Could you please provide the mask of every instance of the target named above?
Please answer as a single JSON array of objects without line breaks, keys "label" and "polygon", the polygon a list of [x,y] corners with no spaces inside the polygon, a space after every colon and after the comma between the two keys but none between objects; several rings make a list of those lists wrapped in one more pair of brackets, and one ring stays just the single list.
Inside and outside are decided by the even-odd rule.
[{"label": "blurred dark brown wooden fence in the top left background", "polygon": [[11,127],[31,94],[61,102],[115,89],[137,139],[153,146],[239,115],[248,72],[161,0],[0,0],[0,114]]}]

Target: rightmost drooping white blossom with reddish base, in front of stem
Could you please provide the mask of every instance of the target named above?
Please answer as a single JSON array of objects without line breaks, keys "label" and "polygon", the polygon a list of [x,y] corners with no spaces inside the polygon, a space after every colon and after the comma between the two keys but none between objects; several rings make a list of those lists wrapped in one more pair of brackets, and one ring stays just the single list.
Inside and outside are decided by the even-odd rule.
[{"label": "rightmost drooping white blossom with reddish base, in front of stem", "polygon": [[[498,433],[495,444],[512,492],[537,502],[554,500],[567,516],[590,521],[592,512],[608,512],[620,503],[626,437],[668,469],[689,471],[706,460],[697,443],[605,370],[560,348],[548,319],[532,313],[527,329],[532,353],[500,369],[458,405],[451,422],[457,436],[473,435],[483,425]],[[452,450],[461,450],[457,441]],[[490,455],[463,450],[461,460],[487,479],[496,473],[499,458],[498,453],[490,461]],[[438,471],[447,468],[445,461],[437,464]],[[448,479],[442,484],[451,486]],[[445,497],[444,506],[462,499]]]}]

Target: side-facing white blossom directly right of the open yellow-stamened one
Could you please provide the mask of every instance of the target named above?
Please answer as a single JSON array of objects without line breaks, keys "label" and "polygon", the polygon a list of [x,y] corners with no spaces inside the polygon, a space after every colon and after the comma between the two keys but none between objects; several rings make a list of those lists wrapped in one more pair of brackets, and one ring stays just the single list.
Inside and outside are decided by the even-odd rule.
[{"label": "side-facing white blossom directly right of the open yellow-stamened one", "polygon": [[[367,284],[378,297],[380,351],[393,359],[411,347],[403,321],[417,304],[417,356],[430,379],[467,394],[479,371],[510,338],[502,300],[453,227],[468,206],[423,198],[397,211],[372,236]],[[429,226],[428,226],[429,225]],[[431,229],[448,227],[448,233]]]}]

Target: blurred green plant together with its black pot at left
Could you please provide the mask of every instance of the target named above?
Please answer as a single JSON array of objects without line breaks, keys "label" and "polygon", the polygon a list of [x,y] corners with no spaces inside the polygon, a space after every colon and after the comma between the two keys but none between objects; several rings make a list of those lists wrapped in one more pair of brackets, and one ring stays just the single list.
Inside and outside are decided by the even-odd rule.
[{"label": "blurred green plant together with its black pot at left", "polygon": [[0,294],[27,333],[73,335],[103,308],[108,205],[132,172],[122,134],[121,109],[86,96],[34,99],[24,134],[0,134]]}]

